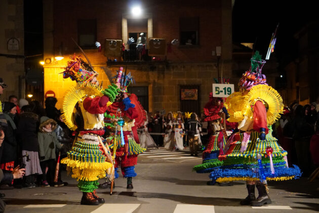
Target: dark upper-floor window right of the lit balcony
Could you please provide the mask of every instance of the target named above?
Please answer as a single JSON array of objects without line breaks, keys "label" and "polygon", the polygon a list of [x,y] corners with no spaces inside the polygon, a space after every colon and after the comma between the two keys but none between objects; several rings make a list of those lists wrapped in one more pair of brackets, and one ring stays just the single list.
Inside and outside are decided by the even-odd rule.
[{"label": "dark upper-floor window right of the lit balcony", "polygon": [[198,17],[187,17],[179,19],[180,45],[199,44],[200,19]]}]

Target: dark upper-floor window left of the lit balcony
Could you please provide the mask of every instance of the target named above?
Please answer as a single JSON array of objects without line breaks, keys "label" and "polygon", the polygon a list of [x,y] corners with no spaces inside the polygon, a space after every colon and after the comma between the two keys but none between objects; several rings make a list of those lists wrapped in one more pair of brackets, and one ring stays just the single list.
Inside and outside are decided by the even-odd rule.
[{"label": "dark upper-floor window left of the lit balcony", "polygon": [[94,48],[96,38],[96,19],[79,19],[77,21],[78,45],[82,48]]}]

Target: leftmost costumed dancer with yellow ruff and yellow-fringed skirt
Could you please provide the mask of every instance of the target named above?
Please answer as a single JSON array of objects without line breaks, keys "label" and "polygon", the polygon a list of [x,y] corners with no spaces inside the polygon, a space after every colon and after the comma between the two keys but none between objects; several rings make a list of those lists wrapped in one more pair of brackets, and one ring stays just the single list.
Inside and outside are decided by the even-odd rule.
[{"label": "leftmost costumed dancer with yellow ruff and yellow-fringed skirt", "polygon": [[[87,58],[88,60],[88,58]],[[104,199],[96,194],[98,180],[112,175],[112,156],[101,141],[104,134],[103,113],[118,94],[116,85],[102,90],[96,80],[98,73],[81,57],[71,57],[63,72],[63,78],[75,80],[77,84],[64,96],[62,117],[71,130],[76,131],[73,146],[67,157],[61,160],[72,169],[72,177],[83,192],[81,204],[98,205]]]}]

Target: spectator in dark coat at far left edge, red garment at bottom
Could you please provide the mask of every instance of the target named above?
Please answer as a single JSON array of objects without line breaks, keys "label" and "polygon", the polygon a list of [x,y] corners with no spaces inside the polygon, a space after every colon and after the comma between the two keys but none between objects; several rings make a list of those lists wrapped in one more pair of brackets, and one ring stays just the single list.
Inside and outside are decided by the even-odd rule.
[{"label": "spectator in dark coat at far left edge, red garment at bottom", "polygon": [[4,116],[7,120],[8,127],[5,128],[5,140],[3,143],[3,153],[0,168],[6,171],[13,171],[14,163],[17,161],[17,140],[16,130],[17,126],[14,123],[14,117],[17,113],[17,108],[14,103],[5,101],[3,103]]}]

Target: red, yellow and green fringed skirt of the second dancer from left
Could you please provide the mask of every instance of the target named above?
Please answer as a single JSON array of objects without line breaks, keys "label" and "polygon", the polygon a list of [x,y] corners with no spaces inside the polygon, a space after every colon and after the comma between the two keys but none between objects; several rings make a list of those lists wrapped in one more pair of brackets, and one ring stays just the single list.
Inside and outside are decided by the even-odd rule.
[{"label": "red, yellow and green fringed skirt of the second dancer from left", "polygon": [[115,168],[121,166],[122,172],[125,167],[136,165],[137,155],[146,151],[146,149],[141,148],[141,146],[135,142],[131,135],[127,135],[127,141],[125,141],[124,145],[122,144],[121,135],[117,135],[115,141],[116,143],[112,143],[109,148],[113,151],[115,146]]}]

